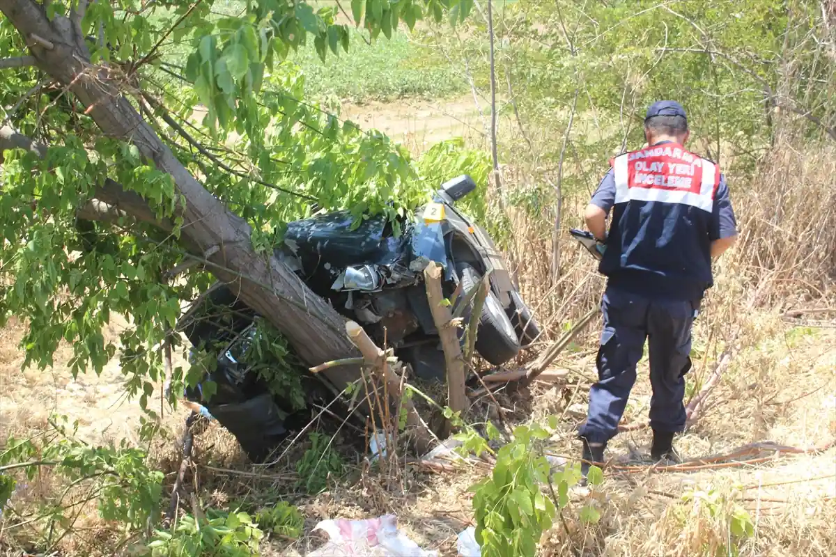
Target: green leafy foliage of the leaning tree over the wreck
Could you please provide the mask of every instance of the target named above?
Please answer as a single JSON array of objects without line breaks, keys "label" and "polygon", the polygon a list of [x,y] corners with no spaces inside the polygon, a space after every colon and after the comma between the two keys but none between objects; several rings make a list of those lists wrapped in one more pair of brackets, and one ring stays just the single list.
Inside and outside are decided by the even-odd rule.
[{"label": "green leafy foliage of the leaning tree over the wreck", "polygon": [[[80,78],[116,84],[180,164],[252,227],[252,249],[267,254],[282,223],[309,215],[313,203],[394,217],[425,195],[404,149],[306,101],[303,75],[286,58],[309,41],[323,59],[350,56],[349,24],[338,20],[372,41],[422,18],[463,21],[472,0],[343,4],[0,2],[0,52],[13,57],[0,65],[0,319],[28,319],[27,363],[51,365],[65,341],[74,373],[101,372],[117,352],[101,330],[118,313],[133,325],[120,339],[120,363],[145,405],[162,372],[161,355],[149,348],[171,331],[181,300],[212,278],[206,271],[164,276],[194,251],[176,179],[130,134],[103,134],[90,117],[96,106],[84,106],[73,83],[33,65],[29,48],[62,47],[25,36],[21,22],[45,13],[55,28],[77,26],[88,52],[74,56],[89,54]],[[13,131],[48,149],[25,149]],[[125,192],[139,194],[148,210],[130,210]],[[175,386],[182,377],[176,370]]]}]

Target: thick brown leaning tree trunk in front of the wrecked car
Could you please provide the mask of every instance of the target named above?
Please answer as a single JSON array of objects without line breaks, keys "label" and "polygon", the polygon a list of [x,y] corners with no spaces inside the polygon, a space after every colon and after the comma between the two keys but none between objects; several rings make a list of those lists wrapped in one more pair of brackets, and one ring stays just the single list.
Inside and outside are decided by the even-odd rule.
[{"label": "thick brown leaning tree trunk in front of the wrecked car", "polygon": [[[50,22],[32,0],[0,0],[0,11],[30,45],[38,68],[76,95],[103,134],[134,144],[146,160],[171,175],[176,193],[185,200],[181,235],[202,251],[213,275],[278,327],[308,365],[359,355],[344,335],[342,317],[287,266],[253,250],[247,222],[176,160],[121,94],[120,84],[89,63],[77,25],[61,16]],[[115,206],[138,217],[135,207]],[[360,377],[357,367],[334,367],[324,374],[339,388]]]}]

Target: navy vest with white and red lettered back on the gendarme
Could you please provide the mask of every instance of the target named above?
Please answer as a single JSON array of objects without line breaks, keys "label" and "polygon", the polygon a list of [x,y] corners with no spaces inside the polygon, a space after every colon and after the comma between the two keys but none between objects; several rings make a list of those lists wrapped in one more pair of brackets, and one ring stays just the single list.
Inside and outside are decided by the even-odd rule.
[{"label": "navy vest with white and red lettered back on the gendarme", "polygon": [[719,166],[670,142],[610,164],[615,200],[600,271],[640,294],[700,299],[713,284],[709,226]]}]

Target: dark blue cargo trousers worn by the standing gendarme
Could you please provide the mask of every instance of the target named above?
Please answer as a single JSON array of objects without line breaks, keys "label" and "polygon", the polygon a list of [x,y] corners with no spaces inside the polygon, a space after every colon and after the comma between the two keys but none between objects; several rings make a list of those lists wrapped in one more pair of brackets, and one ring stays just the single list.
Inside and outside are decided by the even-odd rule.
[{"label": "dark blue cargo trousers worn by the standing gendarme", "polygon": [[661,432],[685,428],[685,374],[691,369],[691,324],[699,301],[653,300],[609,286],[601,301],[604,330],[598,378],[589,390],[589,415],[580,437],[604,443],[618,432],[635,366],[650,343],[650,427]]}]

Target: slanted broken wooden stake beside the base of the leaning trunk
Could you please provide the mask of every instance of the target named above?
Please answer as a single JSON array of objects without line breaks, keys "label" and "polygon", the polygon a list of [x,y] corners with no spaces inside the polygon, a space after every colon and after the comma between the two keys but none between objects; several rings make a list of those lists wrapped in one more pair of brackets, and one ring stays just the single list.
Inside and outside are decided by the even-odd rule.
[{"label": "slanted broken wooden stake beside the base of the leaning trunk", "polygon": [[400,377],[395,373],[395,370],[400,369],[402,364],[400,362],[388,364],[387,359],[389,355],[377,347],[368,333],[365,332],[364,328],[360,327],[357,323],[353,321],[346,322],[345,332],[348,333],[349,340],[363,354],[365,364],[382,381],[385,381],[386,389],[390,397],[398,404],[398,408],[401,405],[403,406],[406,413],[406,425],[414,430],[416,448],[421,454],[426,453],[432,443],[432,433],[430,432],[430,428],[424,423],[424,420],[421,419],[418,411],[415,410],[415,405],[412,404],[412,401],[404,397]]}]

